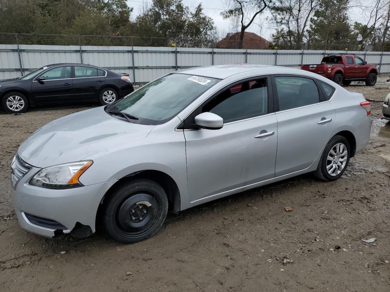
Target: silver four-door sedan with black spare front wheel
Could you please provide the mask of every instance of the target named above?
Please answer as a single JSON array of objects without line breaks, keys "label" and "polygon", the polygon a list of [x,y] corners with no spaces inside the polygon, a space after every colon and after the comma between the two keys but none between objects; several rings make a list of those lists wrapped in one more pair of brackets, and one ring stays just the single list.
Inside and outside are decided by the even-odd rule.
[{"label": "silver four-door sedan with black spare front wheel", "polygon": [[313,172],[340,178],[370,137],[370,102],[303,70],[228,64],[180,70],[32,134],[12,162],[21,226],[87,236],[101,218],[124,243],[168,210]]}]

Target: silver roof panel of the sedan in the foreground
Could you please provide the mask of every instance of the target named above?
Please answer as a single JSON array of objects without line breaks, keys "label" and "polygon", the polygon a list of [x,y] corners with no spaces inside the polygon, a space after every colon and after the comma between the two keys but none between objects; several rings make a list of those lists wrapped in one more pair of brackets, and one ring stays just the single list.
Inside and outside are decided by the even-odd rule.
[{"label": "silver roof panel of the sedan in the foreground", "polygon": [[[272,66],[272,65],[252,65],[247,63],[235,63],[225,65],[214,65],[214,66],[203,66],[203,67],[192,67],[188,69],[178,70],[175,73],[190,74],[196,76],[204,76],[218,79],[225,79],[227,77],[250,71],[258,71],[258,74],[297,74],[313,76],[310,72],[300,69],[294,69],[283,66]],[[261,72],[264,71],[264,72]]]}]

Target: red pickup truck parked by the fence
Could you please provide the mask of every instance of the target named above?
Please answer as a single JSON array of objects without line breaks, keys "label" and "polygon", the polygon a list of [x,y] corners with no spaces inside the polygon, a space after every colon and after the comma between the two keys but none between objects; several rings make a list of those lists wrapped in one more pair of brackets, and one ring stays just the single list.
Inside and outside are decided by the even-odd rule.
[{"label": "red pickup truck parked by the fence", "polygon": [[302,65],[301,69],[320,74],[333,82],[349,85],[351,81],[365,81],[367,86],[374,86],[378,67],[367,64],[355,54],[326,55],[319,65]]}]

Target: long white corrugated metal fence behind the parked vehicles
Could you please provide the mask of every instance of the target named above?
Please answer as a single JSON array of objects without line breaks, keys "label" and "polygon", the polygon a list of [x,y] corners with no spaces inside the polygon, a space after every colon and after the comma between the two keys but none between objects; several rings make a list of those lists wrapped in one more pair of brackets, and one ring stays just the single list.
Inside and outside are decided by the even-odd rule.
[{"label": "long white corrugated metal fence behind the parked vehicles", "polygon": [[52,63],[84,63],[129,73],[144,84],[174,70],[226,63],[251,63],[300,68],[317,64],[325,54],[355,53],[390,73],[390,52],[327,50],[255,50],[143,46],[52,46],[0,44],[0,79],[22,76]]}]

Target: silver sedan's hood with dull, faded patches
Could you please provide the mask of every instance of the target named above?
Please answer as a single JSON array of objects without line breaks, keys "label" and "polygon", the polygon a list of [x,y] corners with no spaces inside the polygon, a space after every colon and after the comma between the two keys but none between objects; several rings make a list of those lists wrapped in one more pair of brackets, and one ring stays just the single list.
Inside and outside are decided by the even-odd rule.
[{"label": "silver sedan's hood with dull, faded patches", "polygon": [[20,145],[18,155],[41,168],[79,161],[118,144],[144,139],[153,127],[114,118],[104,107],[88,109],[39,128]]}]

